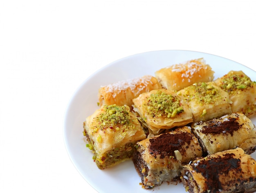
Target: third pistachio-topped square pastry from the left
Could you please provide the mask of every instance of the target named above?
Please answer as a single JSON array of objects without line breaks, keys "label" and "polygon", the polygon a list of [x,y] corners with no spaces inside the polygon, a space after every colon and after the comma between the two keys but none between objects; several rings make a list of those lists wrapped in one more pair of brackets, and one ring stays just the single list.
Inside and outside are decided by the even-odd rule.
[{"label": "third pistachio-topped square pastry from the left", "polygon": [[220,118],[231,113],[229,94],[214,82],[199,82],[177,92],[193,113],[193,122]]}]

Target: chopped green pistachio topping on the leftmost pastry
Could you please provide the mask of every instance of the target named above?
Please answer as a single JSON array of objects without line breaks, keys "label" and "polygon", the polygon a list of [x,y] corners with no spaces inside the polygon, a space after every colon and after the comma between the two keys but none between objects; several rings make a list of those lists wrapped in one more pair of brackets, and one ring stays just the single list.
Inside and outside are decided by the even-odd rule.
[{"label": "chopped green pistachio topping on the leftmost pastry", "polygon": [[[101,113],[96,117],[97,124],[94,126],[94,132],[100,130],[111,129],[113,131],[125,132],[128,129],[135,129],[135,126],[131,124],[134,120],[129,113],[129,109],[126,106],[105,105],[104,113]],[[97,138],[101,141],[101,136]]]}]

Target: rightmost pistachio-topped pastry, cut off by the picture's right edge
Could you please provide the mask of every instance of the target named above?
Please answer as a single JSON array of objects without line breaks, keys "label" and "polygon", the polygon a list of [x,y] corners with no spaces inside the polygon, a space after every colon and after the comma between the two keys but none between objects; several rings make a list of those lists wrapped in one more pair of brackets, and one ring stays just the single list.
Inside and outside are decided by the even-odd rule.
[{"label": "rightmost pistachio-topped pastry, cut off by the picture's right edge", "polygon": [[232,112],[242,112],[247,116],[256,114],[256,82],[243,71],[229,71],[215,82],[229,93]]}]

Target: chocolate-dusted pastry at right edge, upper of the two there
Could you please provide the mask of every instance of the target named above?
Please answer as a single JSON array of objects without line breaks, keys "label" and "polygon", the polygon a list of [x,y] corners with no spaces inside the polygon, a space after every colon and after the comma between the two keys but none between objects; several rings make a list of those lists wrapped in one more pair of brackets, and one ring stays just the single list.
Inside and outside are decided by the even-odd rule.
[{"label": "chocolate-dusted pastry at right edge, upper of the two there", "polygon": [[243,113],[232,113],[207,122],[198,122],[191,128],[207,154],[236,147],[242,148],[248,154],[255,151],[256,129]]}]

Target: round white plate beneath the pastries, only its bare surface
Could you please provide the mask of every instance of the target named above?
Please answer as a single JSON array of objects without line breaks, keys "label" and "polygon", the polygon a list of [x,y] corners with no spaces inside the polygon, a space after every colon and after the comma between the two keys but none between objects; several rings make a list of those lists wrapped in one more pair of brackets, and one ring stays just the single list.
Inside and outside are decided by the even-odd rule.
[{"label": "round white plate beneath the pastries, only its bare surface", "polygon": [[[102,85],[141,77],[154,75],[155,71],[191,59],[204,58],[213,71],[215,79],[225,75],[230,70],[242,70],[252,80],[256,72],[242,64],[216,55],[195,51],[152,51],[132,55],[107,65],[91,75],[70,100],[64,119],[64,140],[67,152],[74,166],[84,179],[99,193],[143,193],[149,192],[141,188],[141,179],[137,174],[132,161],[126,161],[110,169],[100,170],[92,160],[92,152],[85,147],[83,137],[83,122],[91,115],[97,106],[97,93]],[[256,119],[252,118],[254,124]],[[256,153],[252,154],[256,158]],[[163,183],[155,187],[155,193],[180,192],[186,193],[182,184]]]}]

